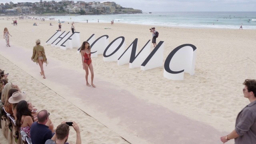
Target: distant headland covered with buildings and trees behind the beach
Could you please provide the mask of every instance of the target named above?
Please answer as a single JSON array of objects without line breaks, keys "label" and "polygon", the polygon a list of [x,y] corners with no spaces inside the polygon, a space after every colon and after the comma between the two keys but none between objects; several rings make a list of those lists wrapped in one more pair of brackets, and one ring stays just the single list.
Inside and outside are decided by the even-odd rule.
[{"label": "distant headland covered with buildings and trees behind the beach", "polygon": [[84,2],[62,0],[60,2],[1,3],[0,15],[93,15],[93,14],[140,14],[142,10],[124,8],[116,2]]}]

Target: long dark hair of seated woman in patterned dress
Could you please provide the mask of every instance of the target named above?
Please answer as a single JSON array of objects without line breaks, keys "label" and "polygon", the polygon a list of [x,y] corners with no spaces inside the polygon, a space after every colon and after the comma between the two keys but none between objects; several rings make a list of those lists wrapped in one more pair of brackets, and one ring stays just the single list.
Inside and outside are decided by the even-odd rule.
[{"label": "long dark hair of seated woman in patterned dress", "polygon": [[21,122],[22,116],[31,116],[32,120],[34,121],[32,112],[28,108],[28,103],[25,100],[18,102],[16,106],[16,118],[17,118],[16,125],[18,130],[20,130],[20,126],[22,125],[22,122]]}]

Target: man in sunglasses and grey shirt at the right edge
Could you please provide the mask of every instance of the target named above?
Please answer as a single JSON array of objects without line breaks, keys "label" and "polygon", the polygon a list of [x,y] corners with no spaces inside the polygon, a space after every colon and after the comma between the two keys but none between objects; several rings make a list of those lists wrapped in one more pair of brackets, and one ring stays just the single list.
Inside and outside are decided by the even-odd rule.
[{"label": "man in sunglasses and grey shirt at the right edge", "polygon": [[224,144],[235,139],[235,144],[255,144],[256,142],[256,80],[246,79],[243,94],[250,104],[244,107],[236,117],[235,129],[228,135],[220,137]]}]

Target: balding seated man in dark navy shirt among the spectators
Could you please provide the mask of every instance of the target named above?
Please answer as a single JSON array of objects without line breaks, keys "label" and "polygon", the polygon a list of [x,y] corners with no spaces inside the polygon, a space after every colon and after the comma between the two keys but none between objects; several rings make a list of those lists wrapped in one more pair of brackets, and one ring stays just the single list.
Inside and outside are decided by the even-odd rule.
[{"label": "balding seated man in dark navy shirt among the spectators", "polygon": [[45,144],[52,138],[52,131],[45,124],[49,120],[47,110],[41,110],[37,114],[38,122],[34,122],[30,128],[30,136],[33,144]]}]

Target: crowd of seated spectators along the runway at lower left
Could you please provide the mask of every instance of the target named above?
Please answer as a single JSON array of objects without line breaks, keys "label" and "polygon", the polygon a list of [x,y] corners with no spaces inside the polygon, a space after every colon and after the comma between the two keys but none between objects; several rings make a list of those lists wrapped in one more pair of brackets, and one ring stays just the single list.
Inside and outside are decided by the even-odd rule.
[{"label": "crowd of seated spectators along the runway at lower left", "polygon": [[54,130],[50,113],[47,110],[38,112],[32,103],[25,100],[26,93],[8,80],[8,74],[1,69],[0,74],[0,108],[15,118],[18,132],[24,131],[33,144],[68,144],[69,126],[72,126],[76,131],[76,144],[81,144],[80,129],[76,122],[73,121],[71,125],[62,122]]}]

